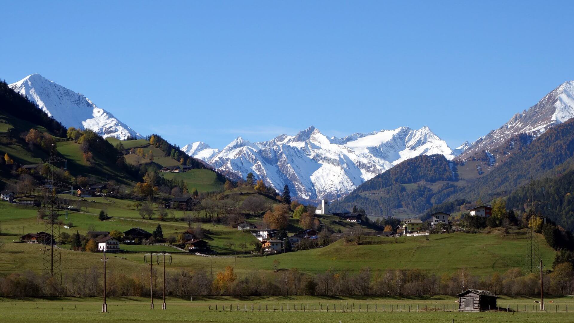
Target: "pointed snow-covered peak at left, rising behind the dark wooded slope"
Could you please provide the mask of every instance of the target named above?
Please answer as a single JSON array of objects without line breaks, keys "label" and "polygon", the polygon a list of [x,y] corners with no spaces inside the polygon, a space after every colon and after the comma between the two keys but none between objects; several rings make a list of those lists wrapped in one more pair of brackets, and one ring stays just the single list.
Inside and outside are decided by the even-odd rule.
[{"label": "pointed snow-covered peak at left, rising behind the dark wooded slope", "polygon": [[11,89],[26,95],[48,116],[60,121],[66,128],[91,129],[102,137],[127,139],[129,136],[143,138],[129,126],[104,109],[97,107],[80,93],[52,82],[40,74],[32,74],[9,85]]}]

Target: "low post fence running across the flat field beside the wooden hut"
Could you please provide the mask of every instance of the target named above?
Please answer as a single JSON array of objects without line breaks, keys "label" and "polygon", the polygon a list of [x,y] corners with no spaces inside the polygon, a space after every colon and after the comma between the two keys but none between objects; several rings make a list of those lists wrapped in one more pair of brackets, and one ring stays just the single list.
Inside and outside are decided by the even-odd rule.
[{"label": "low post fence running across the flat field beside the wooden hut", "polygon": [[[209,305],[209,310],[242,311],[242,312],[458,312],[459,304],[417,303],[219,303]],[[540,310],[540,304],[507,304],[498,305],[496,309],[487,312],[524,312],[524,313],[568,313],[568,304],[545,304]]]}]

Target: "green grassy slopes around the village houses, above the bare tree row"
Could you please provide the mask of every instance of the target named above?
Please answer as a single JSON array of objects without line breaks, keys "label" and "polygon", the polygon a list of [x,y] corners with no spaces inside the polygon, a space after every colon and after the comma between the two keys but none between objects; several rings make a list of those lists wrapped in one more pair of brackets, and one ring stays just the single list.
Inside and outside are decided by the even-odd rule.
[{"label": "green grassy slopes around the village houses, above the bare tree row", "polygon": [[[102,198],[93,198],[96,202],[86,202],[82,212],[69,213],[64,222],[73,222],[72,229],[61,228],[63,232],[86,233],[88,229],[94,230],[127,230],[139,226],[151,232],[157,224],[161,224],[164,235],[176,235],[187,229],[187,225],[179,220],[172,220],[171,211],[168,221],[142,220],[134,209],[128,209],[126,204],[130,201]],[[106,209],[112,217],[110,220],[99,221],[97,213]],[[38,232],[44,229],[43,224],[36,221],[36,210],[32,207],[17,207],[13,204],[0,202],[0,213],[5,214],[2,219],[2,235],[0,239],[6,242],[5,249],[0,252],[0,270],[34,270],[42,264],[42,254],[37,245],[13,243],[18,236],[28,232]],[[176,218],[183,216],[176,211]],[[340,225],[345,228],[351,224],[339,224],[333,217],[325,216],[322,221],[329,225]],[[252,221],[252,220],[250,220]],[[254,221],[255,222],[255,221]],[[223,225],[203,224],[206,240],[215,251],[228,252],[226,243],[231,241],[236,245],[255,238],[247,232],[233,229]],[[297,220],[293,219],[288,228],[290,231],[300,230]],[[541,245],[542,258],[546,264],[552,263],[555,252],[545,240],[538,236]],[[209,268],[223,270],[225,266],[232,265],[236,271],[251,270],[270,271],[273,260],[279,260],[280,268],[298,268],[301,271],[316,274],[326,270],[359,271],[369,267],[374,271],[394,269],[421,269],[439,274],[451,273],[459,268],[467,268],[473,274],[488,275],[492,272],[505,272],[512,267],[522,266],[526,245],[529,243],[528,235],[524,230],[514,230],[502,233],[495,230],[483,234],[433,234],[430,240],[424,237],[400,237],[396,242],[391,238],[364,237],[360,245],[354,242],[348,245],[343,240],[324,248],[284,253],[266,257],[214,257],[207,258],[187,253],[177,253],[176,249],[161,246],[126,246],[126,251],[150,252],[164,251],[176,253],[174,264],[170,270],[180,268]],[[69,248],[64,245],[63,248]],[[251,248],[251,247],[249,247]],[[232,251],[241,252],[234,247]],[[141,253],[120,253],[114,257],[114,266],[122,266],[126,272],[138,272],[145,268]],[[76,268],[82,266],[99,266],[99,255],[88,252],[63,251],[63,267]]]}]

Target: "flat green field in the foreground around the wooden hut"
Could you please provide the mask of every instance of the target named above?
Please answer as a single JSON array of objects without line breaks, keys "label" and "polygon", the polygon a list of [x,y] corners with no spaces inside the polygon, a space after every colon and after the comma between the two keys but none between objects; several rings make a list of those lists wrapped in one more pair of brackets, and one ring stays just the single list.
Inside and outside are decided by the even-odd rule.
[{"label": "flat green field in the foreground around the wooden hut", "polygon": [[[520,312],[460,313],[452,311],[457,306],[454,301],[448,296],[194,297],[193,301],[168,297],[166,310],[161,310],[161,298],[154,299],[154,309],[150,310],[149,298],[108,297],[108,313],[101,313],[102,298],[0,298],[0,311],[2,321],[13,323],[27,323],[34,318],[44,322],[574,322],[573,298],[546,299],[548,313],[533,312],[533,299],[529,297],[499,299],[499,307],[518,308]],[[529,312],[525,312],[525,306]]]}]

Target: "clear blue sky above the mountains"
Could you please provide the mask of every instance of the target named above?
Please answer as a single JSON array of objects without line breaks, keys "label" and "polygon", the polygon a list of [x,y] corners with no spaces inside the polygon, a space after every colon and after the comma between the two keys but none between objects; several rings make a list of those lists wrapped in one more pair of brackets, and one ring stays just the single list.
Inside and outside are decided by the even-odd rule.
[{"label": "clear blue sky above the mountains", "polygon": [[0,78],[223,148],[428,125],[456,147],[574,79],[572,1],[9,1]]}]

